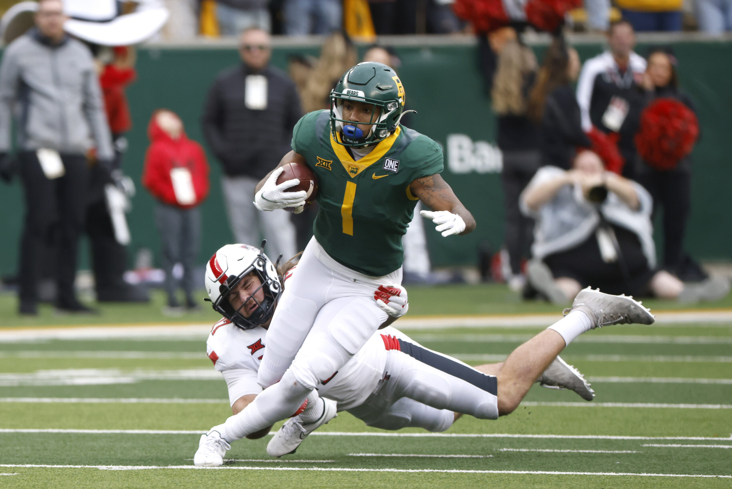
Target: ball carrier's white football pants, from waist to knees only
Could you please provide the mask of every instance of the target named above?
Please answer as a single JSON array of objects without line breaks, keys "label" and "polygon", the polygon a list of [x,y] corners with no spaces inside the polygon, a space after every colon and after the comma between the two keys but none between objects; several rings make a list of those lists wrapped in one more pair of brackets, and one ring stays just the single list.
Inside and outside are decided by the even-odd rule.
[{"label": "ball carrier's white football pants, from waist to knees only", "polygon": [[[378,308],[373,294],[379,285],[400,284],[401,279],[401,269],[384,277],[354,272],[331,258],[313,237],[288,278],[272,317],[258,383],[262,387],[275,384],[292,365],[295,378],[315,389],[345,365],[386,321],[388,316]],[[321,308],[336,299],[340,299],[340,307],[321,318]],[[305,348],[303,342],[314,329],[316,318],[318,338]],[[302,350],[303,355],[293,364]]]}]

